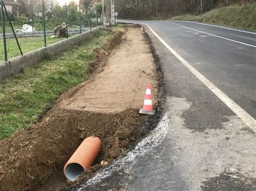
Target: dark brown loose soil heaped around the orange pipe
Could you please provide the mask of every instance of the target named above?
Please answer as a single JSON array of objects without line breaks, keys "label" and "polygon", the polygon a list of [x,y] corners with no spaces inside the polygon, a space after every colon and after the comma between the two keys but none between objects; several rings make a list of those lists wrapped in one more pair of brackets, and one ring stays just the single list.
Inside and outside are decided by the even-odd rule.
[{"label": "dark brown loose soil heaped around the orange pipe", "polygon": [[88,136],[102,140],[96,164],[110,162],[138,138],[141,119],[131,109],[116,114],[64,109],[28,130],[19,130],[1,143],[1,189],[35,189],[56,172],[64,176],[65,162]]}]

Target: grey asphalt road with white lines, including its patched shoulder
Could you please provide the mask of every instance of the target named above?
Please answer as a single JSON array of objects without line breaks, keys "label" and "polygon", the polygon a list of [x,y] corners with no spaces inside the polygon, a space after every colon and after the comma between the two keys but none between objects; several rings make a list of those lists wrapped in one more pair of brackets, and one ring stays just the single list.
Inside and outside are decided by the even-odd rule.
[{"label": "grey asphalt road with white lines, including its patched shoulder", "polygon": [[256,190],[256,33],[191,22],[122,22],[144,24],[156,48],[163,119],[137,151],[80,190]]}]

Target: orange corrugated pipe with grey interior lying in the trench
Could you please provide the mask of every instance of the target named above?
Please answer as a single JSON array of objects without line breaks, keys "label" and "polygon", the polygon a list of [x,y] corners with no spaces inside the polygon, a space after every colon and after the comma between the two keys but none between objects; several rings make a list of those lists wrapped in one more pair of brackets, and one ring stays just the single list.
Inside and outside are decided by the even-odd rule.
[{"label": "orange corrugated pipe with grey interior lying in the trench", "polygon": [[100,139],[98,137],[85,138],[64,166],[63,171],[66,178],[75,181],[87,168],[93,165],[99,151]]}]

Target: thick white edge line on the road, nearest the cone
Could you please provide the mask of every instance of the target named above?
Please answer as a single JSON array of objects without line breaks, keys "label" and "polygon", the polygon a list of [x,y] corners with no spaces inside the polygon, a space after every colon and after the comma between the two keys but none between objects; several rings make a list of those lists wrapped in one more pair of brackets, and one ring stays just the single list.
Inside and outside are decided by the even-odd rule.
[{"label": "thick white edge line on the road, nearest the cone", "polygon": [[[147,25],[147,24],[146,24]],[[248,125],[254,132],[256,132],[255,119],[248,114],[244,109],[242,109],[237,103],[235,103],[231,98],[229,98],[226,94],[223,93],[219,88],[217,88],[210,80],[208,80],[203,74],[198,72],[193,66],[190,65],[184,58],[182,58],[174,49],[172,49],[163,39],[161,39],[156,32],[154,32],[149,25],[147,25],[149,29],[153,32],[153,34],[165,45],[169,51],[176,56],[177,59],[183,65],[192,72],[201,82],[205,84],[207,88],[209,88],[221,101],[223,101],[228,108],[230,108],[238,117],[242,119],[242,121]]]}]

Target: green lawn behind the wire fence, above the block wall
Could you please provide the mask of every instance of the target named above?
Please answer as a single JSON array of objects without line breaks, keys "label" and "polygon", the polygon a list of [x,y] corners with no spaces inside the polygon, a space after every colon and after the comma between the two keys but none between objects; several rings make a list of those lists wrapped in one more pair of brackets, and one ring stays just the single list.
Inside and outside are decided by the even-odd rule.
[{"label": "green lawn behind the wire fence, above the block wall", "polygon": [[[56,43],[57,41],[63,40],[65,38],[51,38],[46,37],[46,42],[48,45]],[[23,54],[33,51],[38,48],[44,47],[44,37],[28,37],[28,38],[18,38],[19,45],[21,46]],[[3,39],[0,39],[0,61],[4,61],[4,48]],[[15,56],[21,55],[19,52],[16,40],[14,38],[9,38],[6,40],[8,60],[14,58]]]}]

